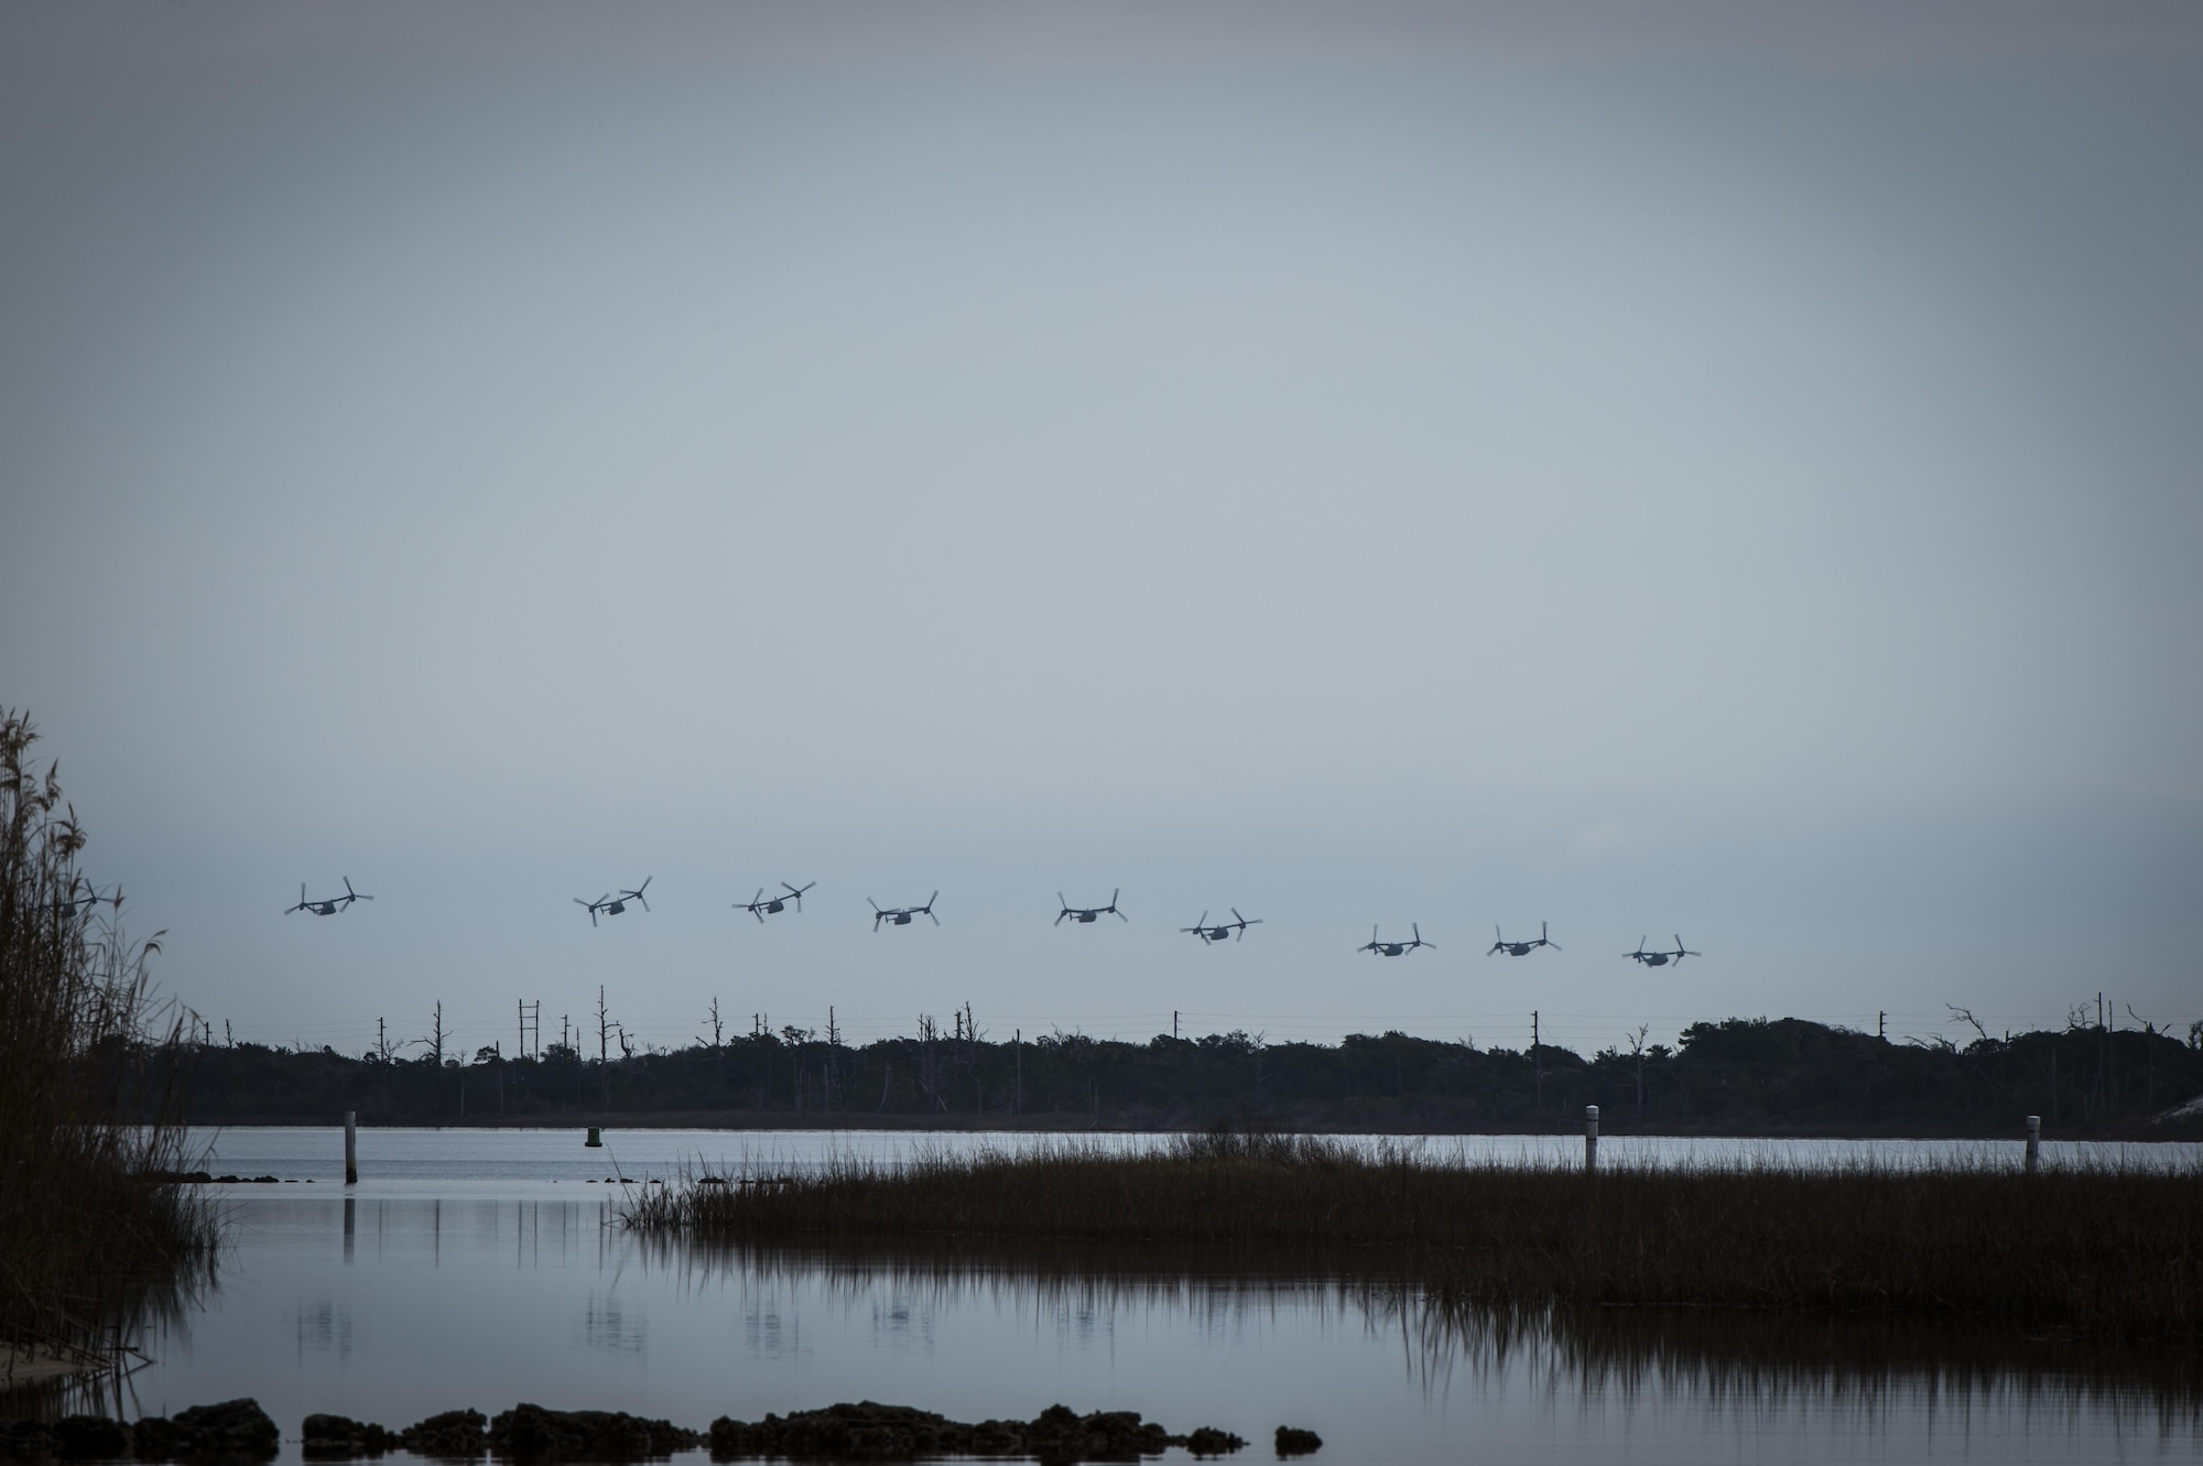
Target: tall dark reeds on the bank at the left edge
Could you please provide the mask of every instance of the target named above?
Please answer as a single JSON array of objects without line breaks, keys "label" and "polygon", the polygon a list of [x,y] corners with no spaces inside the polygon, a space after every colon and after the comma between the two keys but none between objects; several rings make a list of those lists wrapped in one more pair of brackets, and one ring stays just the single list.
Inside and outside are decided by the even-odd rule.
[{"label": "tall dark reeds on the bank at the left edge", "polygon": [[0,1389],[104,1369],[207,1277],[183,1015],[152,997],[159,940],[77,867],[84,830],[37,731],[0,711]]}]

